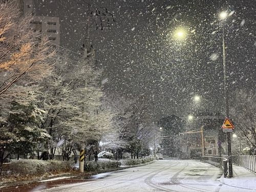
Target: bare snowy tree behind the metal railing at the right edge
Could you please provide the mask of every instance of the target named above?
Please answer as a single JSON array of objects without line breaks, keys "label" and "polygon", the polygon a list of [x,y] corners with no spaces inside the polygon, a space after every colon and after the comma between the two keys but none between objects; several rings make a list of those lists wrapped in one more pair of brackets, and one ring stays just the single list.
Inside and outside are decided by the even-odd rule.
[{"label": "bare snowy tree behind the metal railing at the right edge", "polygon": [[[230,117],[234,123],[237,139],[243,148],[247,146],[251,154],[256,154],[256,95],[252,91],[237,91],[234,94]],[[240,147],[240,146],[238,146]],[[239,151],[239,150],[238,150]]]}]

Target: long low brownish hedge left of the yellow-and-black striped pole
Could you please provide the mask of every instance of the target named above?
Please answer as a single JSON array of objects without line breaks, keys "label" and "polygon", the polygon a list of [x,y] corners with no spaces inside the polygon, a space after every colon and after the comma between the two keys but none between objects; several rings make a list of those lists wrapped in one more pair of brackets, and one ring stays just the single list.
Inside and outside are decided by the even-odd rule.
[{"label": "long low brownish hedge left of the yellow-and-black striped pole", "polygon": [[36,159],[13,160],[10,162],[10,169],[15,174],[37,175],[58,170],[69,170],[73,162],[70,161],[42,161]]}]

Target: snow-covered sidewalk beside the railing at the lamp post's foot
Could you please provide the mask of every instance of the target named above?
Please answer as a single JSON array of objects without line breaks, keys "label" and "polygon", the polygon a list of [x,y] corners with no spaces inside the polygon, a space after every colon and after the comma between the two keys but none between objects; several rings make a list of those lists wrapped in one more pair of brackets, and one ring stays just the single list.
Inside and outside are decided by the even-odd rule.
[{"label": "snow-covered sidewalk beside the railing at the lamp post's foot", "polygon": [[220,182],[225,185],[256,191],[256,174],[241,166],[232,165],[232,167],[233,177],[229,178],[227,176],[224,178],[222,176]]}]

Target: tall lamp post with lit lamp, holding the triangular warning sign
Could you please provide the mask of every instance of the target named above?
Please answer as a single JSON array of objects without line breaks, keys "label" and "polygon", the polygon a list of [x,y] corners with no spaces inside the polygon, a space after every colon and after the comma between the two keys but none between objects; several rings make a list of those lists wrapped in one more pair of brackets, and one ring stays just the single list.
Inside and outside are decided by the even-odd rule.
[{"label": "tall lamp post with lit lamp, holding the triangular warning sign", "polygon": [[[224,77],[224,94],[225,94],[225,111],[226,117],[229,118],[228,111],[228,90],[227,90],[227,76],[226,76],[226,50],[225,50],[225,31],[224,31],[224,19],[227,16],[227,13],[221,13],[222,18],[222,47],[223,47],[223,77]],[[231,155],[231,139],[230,132],[227,132],[227,151],[228,151],[228,172],[229,177],[233,177],[233,168],[232,168],[232,155]]]}]

